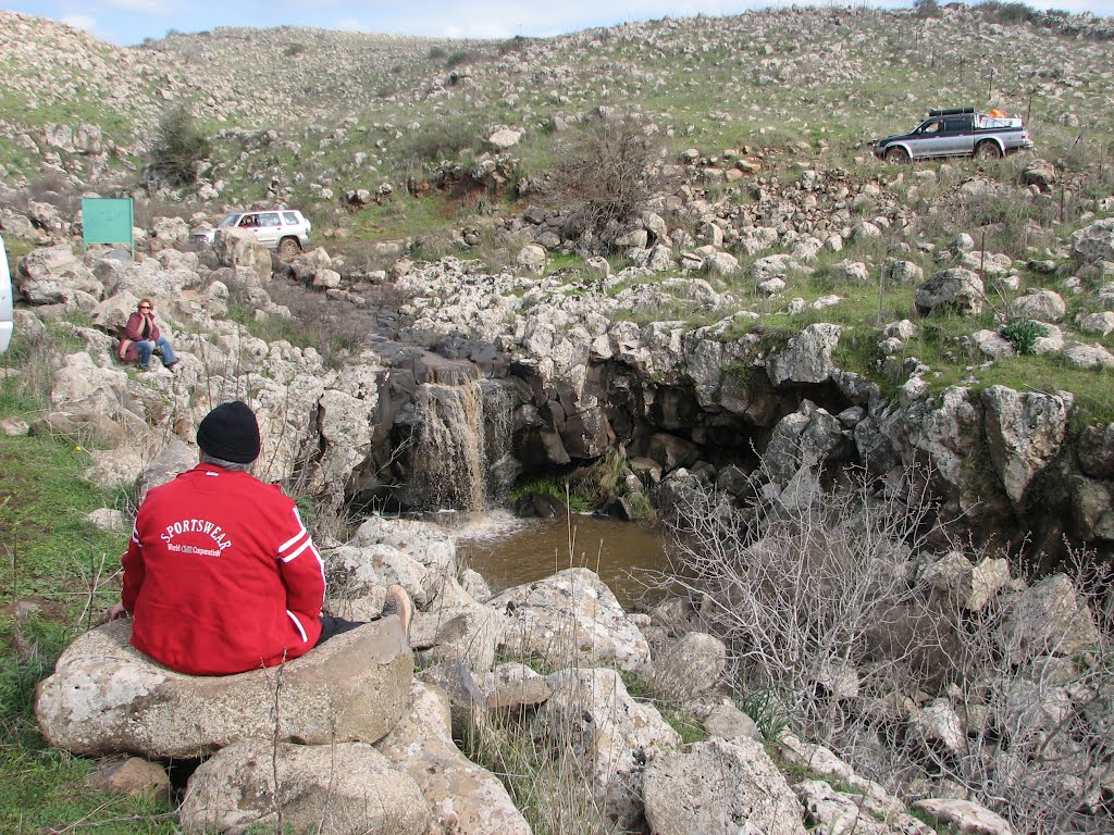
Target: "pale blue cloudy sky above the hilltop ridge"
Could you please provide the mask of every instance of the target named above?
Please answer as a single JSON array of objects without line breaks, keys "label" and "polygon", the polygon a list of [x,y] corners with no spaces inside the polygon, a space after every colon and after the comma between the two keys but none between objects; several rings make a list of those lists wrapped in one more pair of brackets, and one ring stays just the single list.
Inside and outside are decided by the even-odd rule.
[{"label": "pale blue cloudy sky above the hilltop ridge", "polygon": [[[941,4],[945,0],[941,0]],[[859,0],[844,0],[857,4]],[[868,0],[873,8],[912,0]],[[119,46],[218,26],[314,26],[431,38],[545,38],[663,17],[740,14],[775,0],[0,0],[0,8],[55,18]],[[808,4],[802,2],[801,4]],[[818,4],[828,4],[827,0]],[[1037,9],[1114,14],[1114,0],[1027,0]]]}]

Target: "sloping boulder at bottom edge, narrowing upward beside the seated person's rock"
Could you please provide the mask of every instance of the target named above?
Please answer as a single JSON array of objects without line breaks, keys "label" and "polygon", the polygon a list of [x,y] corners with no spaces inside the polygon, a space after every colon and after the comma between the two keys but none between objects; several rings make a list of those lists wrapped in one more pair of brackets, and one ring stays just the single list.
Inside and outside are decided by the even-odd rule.
[{"label": "sloping boulder at bottom edge, narrowing upward beside the seated person's rock", "polygon": [[416,681],[402,719],[375,747],[413,777],[446,833],[530,835],[499,778],[460,753],[440,688]]}]

